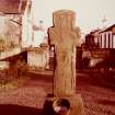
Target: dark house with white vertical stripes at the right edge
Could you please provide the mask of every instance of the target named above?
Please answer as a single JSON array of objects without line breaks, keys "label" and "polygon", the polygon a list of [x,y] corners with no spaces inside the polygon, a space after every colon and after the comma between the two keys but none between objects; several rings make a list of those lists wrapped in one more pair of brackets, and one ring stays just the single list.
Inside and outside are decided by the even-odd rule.
[{"label": "dark house with white vertical stripes at the right edge", "polygon": [[85,36],[88,47],[99,46],[99,48],[115,48],[115,24],[102,30],[94,30]]}]

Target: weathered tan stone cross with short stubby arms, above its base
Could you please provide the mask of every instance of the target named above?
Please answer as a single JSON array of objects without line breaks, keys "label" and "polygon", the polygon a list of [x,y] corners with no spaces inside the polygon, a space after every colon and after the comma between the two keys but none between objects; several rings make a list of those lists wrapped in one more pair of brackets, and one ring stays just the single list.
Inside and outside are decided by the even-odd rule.
[{"label": "weathered tan stone cross with short stubby arms, above its base", "polygon": [[53,22],[49,42],[56,53],[54,96],[70,96],[76,93],[76,47],[81,37],[80,28],[74,26],[76,13],[70,10],[54,12]]}]

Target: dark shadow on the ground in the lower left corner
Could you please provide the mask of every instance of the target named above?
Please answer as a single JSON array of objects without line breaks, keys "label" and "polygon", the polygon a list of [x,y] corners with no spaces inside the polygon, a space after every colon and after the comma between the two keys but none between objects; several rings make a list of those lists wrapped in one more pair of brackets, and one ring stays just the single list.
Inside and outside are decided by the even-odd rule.
[{"label": "dark shadow on the ground in the lower left corner", "polygon": [[42,115],[42,110],[21,105],[0,104],[0,115]]}]

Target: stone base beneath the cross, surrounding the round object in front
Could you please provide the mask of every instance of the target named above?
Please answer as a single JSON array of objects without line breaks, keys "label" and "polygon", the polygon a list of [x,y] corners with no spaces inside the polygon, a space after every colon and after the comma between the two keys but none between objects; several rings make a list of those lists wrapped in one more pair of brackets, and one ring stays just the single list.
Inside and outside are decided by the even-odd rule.
[{"label": "stone base beneath the cross, surrounding the round object in front", "polygon": [[43,114],[44,115],[58,115],[55,113],[53,108],[53,103],[56,100],[66,99],[70,102],[70,111],[68,115],[84,115],[83,102],[80,94],[74,94],[73,96],[61,96],[54,97],[53,95],[48,95],[44,103]]}]

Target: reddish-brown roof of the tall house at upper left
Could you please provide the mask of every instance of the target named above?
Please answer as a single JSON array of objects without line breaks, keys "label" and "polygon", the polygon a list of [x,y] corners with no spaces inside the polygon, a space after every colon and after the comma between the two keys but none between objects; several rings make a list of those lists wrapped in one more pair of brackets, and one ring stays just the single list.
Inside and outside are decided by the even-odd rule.
[{"label": "reddish-brown roof of the tall house at upper left", "polygon": [[[0,0],[0,12],[2,13],[23,13],[27,0]],[[21,9],[20,9],[21,8]]]}]

